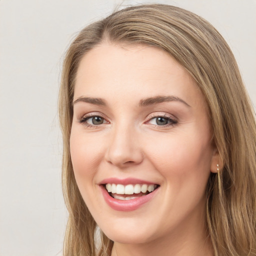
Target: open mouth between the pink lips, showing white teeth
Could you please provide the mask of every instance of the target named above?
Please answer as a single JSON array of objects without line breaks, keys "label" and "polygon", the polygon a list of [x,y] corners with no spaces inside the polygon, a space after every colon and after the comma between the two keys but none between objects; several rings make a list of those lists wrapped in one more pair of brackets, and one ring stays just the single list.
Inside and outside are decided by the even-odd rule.
[{"label": "open mouth between the pink lips, showing white teeth", "polygon": [[108,194],[117,200],[132,200],[145,196],[159,187],[157,184],[102,184]]}]

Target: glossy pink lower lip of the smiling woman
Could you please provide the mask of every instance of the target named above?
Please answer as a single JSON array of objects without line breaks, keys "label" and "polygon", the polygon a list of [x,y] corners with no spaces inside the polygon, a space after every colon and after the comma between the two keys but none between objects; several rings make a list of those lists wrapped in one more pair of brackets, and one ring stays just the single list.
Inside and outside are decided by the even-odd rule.
[{"label": "glossy pink lower lip of the smiling woman", "polygon": [[106,191],[106,189],[100,185],[101,192],[103,194],[103,197],[106,201],[106,203],[114,210],[119,210],[119,211],[131,211],[139,208],[141,205],[144,203],[148,202],[153,198],[155,195],[156,191],[158,188],[156,188],[154,191],[152,191],[149,194],[139,196],[134,199],[130,200],[118,200],[113,198],[112,196],[109,195],[109,193]]}]

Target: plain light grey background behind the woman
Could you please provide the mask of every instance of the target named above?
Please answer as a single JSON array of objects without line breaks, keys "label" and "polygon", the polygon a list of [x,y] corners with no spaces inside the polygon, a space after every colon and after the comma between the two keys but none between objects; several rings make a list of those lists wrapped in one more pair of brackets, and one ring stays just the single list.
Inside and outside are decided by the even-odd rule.
[{"label": "plain light grey background behind the woman", "polygon": [[62,55],[85,24],[119,3],[191,10],[224,36],[256,104],[255,0],[0,0],[0,255],[61,255],[57,91]]}]

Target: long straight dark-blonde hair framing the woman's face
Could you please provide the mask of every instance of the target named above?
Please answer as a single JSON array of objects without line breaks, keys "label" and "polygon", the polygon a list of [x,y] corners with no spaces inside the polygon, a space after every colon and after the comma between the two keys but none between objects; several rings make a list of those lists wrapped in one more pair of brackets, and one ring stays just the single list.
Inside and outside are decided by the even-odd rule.
[{"label": "long straight dark-blonde hair framing the woman's face", "polygon": [[113,241],[97,225],[76,185],[69,151],[72,100],[81,58],[102,42],[146,44],[170,54],[204,95],[220,170],[206,191],[206,222],[215,256],[256,255],[255,113],[222,36],[203,18],[165,4],[131,6],[82,29],[63,62],[59,118],[63,134],[62,187],[69,212],[64,255],[110,255]]}]

